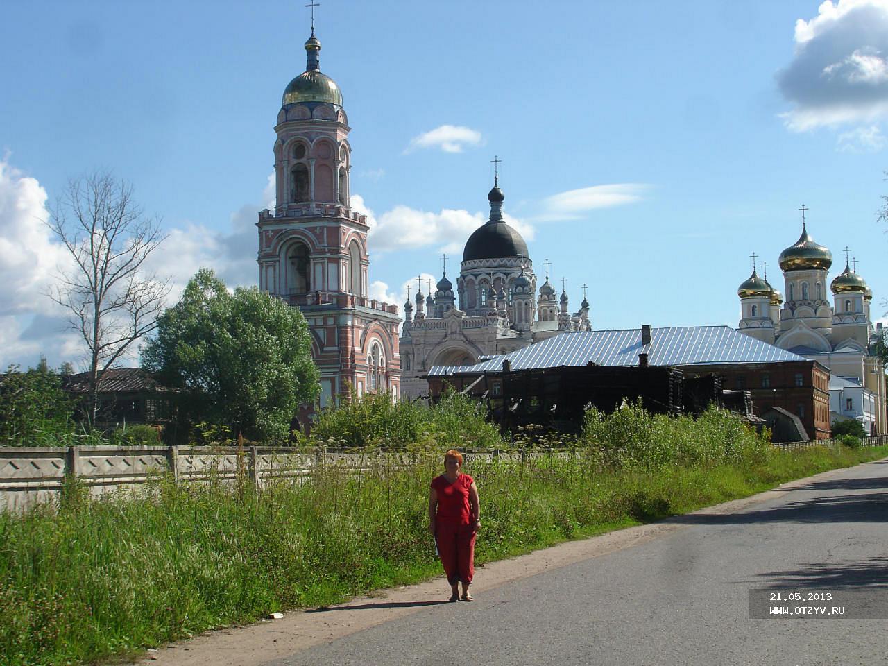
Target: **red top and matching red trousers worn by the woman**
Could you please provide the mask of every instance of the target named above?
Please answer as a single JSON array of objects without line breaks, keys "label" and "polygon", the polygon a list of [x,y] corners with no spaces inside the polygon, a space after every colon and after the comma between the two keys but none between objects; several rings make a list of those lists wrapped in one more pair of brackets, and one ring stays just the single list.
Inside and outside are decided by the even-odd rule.
[{"label": "red top and matching red trousers worn by the woman", "polygon": [[456,581],[468,585],[475,575],[475,526],[472,523],[472,503],[469,490],[474,480],[468,474],[460,474],[450,483],[441,474],[432,480],[432,488],[438,495],[438,511],[435,514],[435,540],[448,583]]}]

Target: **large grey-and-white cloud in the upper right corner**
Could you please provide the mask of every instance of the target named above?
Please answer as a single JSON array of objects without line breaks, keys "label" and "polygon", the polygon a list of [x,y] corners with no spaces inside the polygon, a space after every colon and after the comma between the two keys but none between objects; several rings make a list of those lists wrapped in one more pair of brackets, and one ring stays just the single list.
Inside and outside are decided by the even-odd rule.
[{"label": "large grey-and-white cloud in the upper right corner", "polygon": [[888,0],[824,2],[796,22],[796,50],[778,75],[792,131],[888,117]]}]

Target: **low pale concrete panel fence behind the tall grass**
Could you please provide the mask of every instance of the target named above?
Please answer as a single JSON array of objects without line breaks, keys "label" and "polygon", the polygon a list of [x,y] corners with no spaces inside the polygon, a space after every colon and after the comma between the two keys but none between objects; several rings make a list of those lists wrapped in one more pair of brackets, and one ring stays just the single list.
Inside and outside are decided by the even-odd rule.
[{"label": "low pale concrete panel fence behind the tall grass", "polygon": [[[888,435],[864,438],[865,446],[888,444]],[[834,440],[775,444],[796,450],[838,446]],[[539,462],[565,458],[576,450],[470,450],[467,462],[495,459]],[[148,480],[169,473],[174,482],[234,481],[239,476],[260,488],[269,480],[300,479],[336,467],[360,473],[375,464],[408,464],[412,456],[397,452],[368,452],[348,448],[310,451],[286,447],[0,447],[0,511],[19,511],[35,503],[58,499],[66,480],[79,480],[92,496],[119,488],[138,489]]]}]

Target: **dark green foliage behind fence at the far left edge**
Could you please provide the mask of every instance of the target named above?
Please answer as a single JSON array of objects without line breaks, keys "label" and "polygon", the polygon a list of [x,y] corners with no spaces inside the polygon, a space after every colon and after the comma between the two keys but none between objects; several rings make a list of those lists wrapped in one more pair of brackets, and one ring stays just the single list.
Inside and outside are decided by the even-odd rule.
[{"label": "dark green foliage behind fence at the far left edge", "polygon": [[62,380],[45,365],[0,379],[0,446],[60,447],[75,435],[74,402]]}]

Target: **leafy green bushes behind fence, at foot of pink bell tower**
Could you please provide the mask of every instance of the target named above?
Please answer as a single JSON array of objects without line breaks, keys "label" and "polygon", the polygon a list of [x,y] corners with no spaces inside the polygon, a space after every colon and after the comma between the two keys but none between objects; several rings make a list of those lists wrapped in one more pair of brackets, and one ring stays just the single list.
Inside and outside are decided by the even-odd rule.
[{"label": "leafy green bushes behind fence, at foot of pink bell tower", "polygon": [[313,439],[337,447],[496,448],[503,446],[484,409],[461,393],[448,392],[432,407],[418,400],[392,401],[368,393],[321,410]]}]

